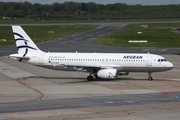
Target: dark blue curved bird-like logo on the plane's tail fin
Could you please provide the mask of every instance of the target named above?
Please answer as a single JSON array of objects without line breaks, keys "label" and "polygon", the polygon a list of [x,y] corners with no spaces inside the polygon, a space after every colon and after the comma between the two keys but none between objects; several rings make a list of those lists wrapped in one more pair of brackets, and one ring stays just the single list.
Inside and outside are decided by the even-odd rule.
[{"label": "dark blue curved bird-like logo on the plane's tail fin", "polygon": [[20,49],[22,49],[22,48],[26,48],[25,51],[24,51],[23,57],[25,57],[26,54],[28,53],[28,49],[37,50],[36,48],[33,48],[33,47],[29,46],[29,45],[28,45],[29,40],[26,40],[21,34],[14,32],[14,36],[18,36],[18,38],[16,37],[16,39],[15,39],[16,43],[17,43],[18,41],[24,41],[24,43],[22,43],[21,45],[19,45],[19,44],[17,45],[17,44],[16,44],[18,51],[19,51]]}]

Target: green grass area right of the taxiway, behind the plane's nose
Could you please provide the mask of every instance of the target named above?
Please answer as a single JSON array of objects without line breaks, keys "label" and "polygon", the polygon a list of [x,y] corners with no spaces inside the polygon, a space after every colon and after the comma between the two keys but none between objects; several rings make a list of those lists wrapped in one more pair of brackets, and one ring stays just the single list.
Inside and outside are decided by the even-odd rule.
[{"label": "green grass area right of the taxiway, behind the plane's nose", "polygon": [[[147,23],[146,23],[147,24]],[[180,47],[180,34],[175,34],[175,28],[180,23],[151,23],[149,28],[142,28],[141,24],[124,27],[124,31],[112,33],[102,37],[94,43],[119,47]],[[137,34],[141,31],[142,34]],[[147,43],[129,43],[129,40],[147,40]]]}]

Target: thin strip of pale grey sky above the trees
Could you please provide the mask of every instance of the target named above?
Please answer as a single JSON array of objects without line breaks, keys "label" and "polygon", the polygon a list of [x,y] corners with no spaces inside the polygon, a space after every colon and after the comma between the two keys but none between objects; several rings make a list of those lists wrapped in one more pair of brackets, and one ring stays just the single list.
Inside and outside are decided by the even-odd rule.
[{"label": "thin strip of pale grey sky above the trees", "polygon": [[94,2],[99,4],[113,4],[113,3],[126,3],[141,4],[141,5],[167,5],[167,4],[180,4],[180,0],[0,0],[2,2],[24,2],[28,1],[31,3],[41,4],[52,4],[54,2],[64,3],[65,1],[73,2]]}]

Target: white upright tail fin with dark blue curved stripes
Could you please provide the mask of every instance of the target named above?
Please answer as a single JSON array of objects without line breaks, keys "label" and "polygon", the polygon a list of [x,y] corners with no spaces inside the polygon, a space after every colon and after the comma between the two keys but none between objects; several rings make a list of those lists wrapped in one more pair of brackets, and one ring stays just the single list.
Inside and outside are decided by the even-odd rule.
[{"label": "white upright tail fin with dark blue curved stripes", "polygon": [[12,30],[19,54],[22,54],[23,57],[25,57],[31,52],[41,52],[21,26],[12,26]]}]

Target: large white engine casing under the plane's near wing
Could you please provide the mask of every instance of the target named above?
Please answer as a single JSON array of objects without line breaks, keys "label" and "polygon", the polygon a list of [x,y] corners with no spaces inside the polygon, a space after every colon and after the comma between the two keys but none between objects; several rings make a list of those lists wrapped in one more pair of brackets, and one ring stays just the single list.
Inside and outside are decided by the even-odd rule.
[{"label": "large white engine casing under the plane's near wing", "polygon": [[117,69],[102,69],[97,72],[99,78],[113,79],[117,78]]}]

